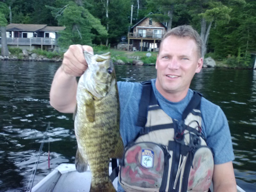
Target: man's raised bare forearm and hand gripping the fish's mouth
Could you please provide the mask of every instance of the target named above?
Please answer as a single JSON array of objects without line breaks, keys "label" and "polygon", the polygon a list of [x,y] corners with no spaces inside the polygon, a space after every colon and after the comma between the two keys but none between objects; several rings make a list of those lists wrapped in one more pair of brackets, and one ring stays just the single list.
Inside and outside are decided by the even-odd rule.
[{"label": "man's raised bare forearm and hand gripping the fish's mouth", "polygon": [[87,69],[83,51],[93,54],[86,45],[70,45],[64,53],[60,68],[55,73],[50,91],[50,104],[62,113],[73,113],[76,107],[76,77]]}]

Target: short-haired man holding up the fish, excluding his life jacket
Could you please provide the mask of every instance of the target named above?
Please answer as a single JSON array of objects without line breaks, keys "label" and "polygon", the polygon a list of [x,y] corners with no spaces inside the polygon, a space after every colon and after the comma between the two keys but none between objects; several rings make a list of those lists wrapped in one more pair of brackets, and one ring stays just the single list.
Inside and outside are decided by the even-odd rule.
[{"label": "short-haired man holding up the fish, excluding his life jacket", "polygon": [[[93,53],[92,47],[71,45],[64,54],[50,92],[51,105],[63,113],[73,113],[76,106],[76,76],[87,68],[83,50]],[[202,41],[191,26],[179,26],[162,39],[156,60],[157,78],[151,80],[159,106],[173,119],[181,120],[182,113],[193,96],[189,89],[195,73],[203,66]],[[140,131],[136,125],[142,92],[140,83],[118,82],[120,98],[120,133],[126,146]],[[214,154],[214,191],[236,191],[232,165],[234,159],[227,119],[219,106],[202,98],[202,132]],[[119,188],[121,191],[121,189]]]}]

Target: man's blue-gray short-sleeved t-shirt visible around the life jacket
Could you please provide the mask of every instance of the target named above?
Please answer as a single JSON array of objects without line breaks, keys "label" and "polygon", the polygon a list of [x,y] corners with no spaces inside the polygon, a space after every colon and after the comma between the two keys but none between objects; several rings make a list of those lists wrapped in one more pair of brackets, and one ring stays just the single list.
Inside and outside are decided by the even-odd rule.
[{"label": "man's blue-gray short-sleeved t-shirt visible around the life jacket", "polygon": [[[157,91],[156,79],[152,79],[151,82],[159,106],[167,115],[180,121],[183,111],[193,96],[193,91],[189,89],[187,96],[180,102],[171,102]],[[118,82],[117,85],[120,100],[120,133],[125,146],[135,138],[141,128],[136,126],[136,122],[142,84]],[[207,145],[214,154],[214,164],[223,164],[234,160],[228,121],[221,108],[202,97],[201,113],[202,132]]]}]

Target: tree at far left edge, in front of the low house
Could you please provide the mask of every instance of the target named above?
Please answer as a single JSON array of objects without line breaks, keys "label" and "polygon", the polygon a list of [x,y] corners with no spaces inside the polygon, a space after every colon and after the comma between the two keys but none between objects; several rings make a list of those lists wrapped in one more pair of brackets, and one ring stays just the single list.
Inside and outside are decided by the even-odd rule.
[{"label": "tree at far left edge, in front of the low house", "polygon": [[9,8],[6,4],[0,2],[0,30],[1,30],[1,44],[2,44],[2,56],[9,56],[9,50],[7,47],[7,39],[6,39],[6,25],[7,20],[6,16],[9,14]]}]

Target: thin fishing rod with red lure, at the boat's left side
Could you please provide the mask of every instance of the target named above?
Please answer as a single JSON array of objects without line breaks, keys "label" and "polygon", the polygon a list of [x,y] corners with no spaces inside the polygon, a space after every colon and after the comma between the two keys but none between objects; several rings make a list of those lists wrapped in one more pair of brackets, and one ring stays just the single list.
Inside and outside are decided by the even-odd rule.
[{"label": "thin fishing rod with red lure, at the boat's left side", "polygon": [[[39,163],[39,159],[40,159],[40,155],[41,155],[41,152],[42,152],[42,148],[43,148],[43,146],[44,146],[44,140],[45,140],[45,138],[47,137],[46,133],[47,133],[47,131],[48,131],[49,128],[50,128],[50,122],[48,123],[48,125],[47,125],[47,127],[46,127],[46,130],[45,130],[45,132],[44,132],[43,141],[41,142],[41,145],[40,145],[40,148],[39,148],[39,151],[38,151],[38,154],[37,154],[37,160],[36,160],[36,162],[35,162],[35,164],[34,164],[34,168],[33,168],[33,170],[34,170],[34,175],[33,175],[33,171],[32,171],[32,173],[31,173],[31,175],[30,175],[29,182],[28,182],[28,188],[29,188],[29,184],[30,184],[30,182],[31,182],[32,175],[33,175],[33,180],[32,180],[30,189],[27,188],[27,192],[28,192],[28,191],[31,192],[31,190],[32,190],[33,183],[34,183],[35,176],[36,176],[37,165],[38,165],[38,163]],[[48,167],[50,168],[50,163],[49,163],[49,162],[50,162],[50,161],[49,161],[49,160],[50,160],[50,141],[49,141],[49,145],[48,145],[48,146],[49,146],[49,148],[48,148]]]}]

